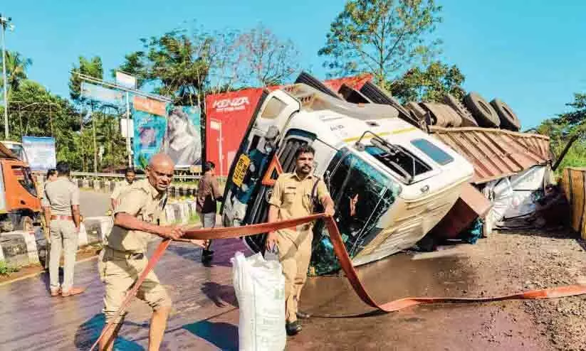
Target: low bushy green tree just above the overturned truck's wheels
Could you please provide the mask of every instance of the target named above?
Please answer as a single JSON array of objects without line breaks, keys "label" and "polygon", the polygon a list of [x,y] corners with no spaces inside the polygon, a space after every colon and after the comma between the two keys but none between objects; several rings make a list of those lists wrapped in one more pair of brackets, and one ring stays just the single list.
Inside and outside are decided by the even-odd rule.
[{"label": "low bushy green tree just above the overturned truck's wheels", "polygon": [[389,92],[402,102],[441,102],[447,93],[462,99],[466,93],[461,85],[466,77],[456,65],[435,61],[427,68],[412,68],[391,82]]}]

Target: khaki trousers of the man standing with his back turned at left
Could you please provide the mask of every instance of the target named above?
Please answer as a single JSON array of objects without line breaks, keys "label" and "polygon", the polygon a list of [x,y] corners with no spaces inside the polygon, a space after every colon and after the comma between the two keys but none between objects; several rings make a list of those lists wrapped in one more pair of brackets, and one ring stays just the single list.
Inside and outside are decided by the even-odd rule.
[{"label": "khaki trousers of the man standing with his back turned at left", "polygon": [[[49,280],[51,290],[63,291],[73,287],[75,256],[78,252],[78,233],[73,220],[51,220],[51,253],[49,254]],[[59,284],[59,262],[63,248],[63,284]]]}]

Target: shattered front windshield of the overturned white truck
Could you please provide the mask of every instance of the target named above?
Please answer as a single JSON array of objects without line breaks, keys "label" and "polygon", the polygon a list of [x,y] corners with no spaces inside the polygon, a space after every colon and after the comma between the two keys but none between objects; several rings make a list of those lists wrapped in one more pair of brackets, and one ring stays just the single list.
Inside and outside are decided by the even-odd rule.
[{"label": "shattered front windshield of the overturned white truck", "polygon": [[[342,148],[326,171],[326,184],[335,202],[335,220],[350,257],[360,252],[382,228],[380,217],[397,198],[399,185],[367,161]],[[327,229],[315,227],[312,266],[316,274],[339,269]]]}]

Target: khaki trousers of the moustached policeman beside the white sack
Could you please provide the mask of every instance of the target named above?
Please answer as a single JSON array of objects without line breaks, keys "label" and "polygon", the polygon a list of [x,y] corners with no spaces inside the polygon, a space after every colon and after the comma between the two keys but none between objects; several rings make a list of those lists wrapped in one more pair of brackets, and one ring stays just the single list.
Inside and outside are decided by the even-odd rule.
[{"label": "khaki trousers of the moustached policeman beside the white sack", "polygon": [[303,232],[278,232],[278,254],[285,276],[285,318],[287,322],[297,320],[301,289],[307,280],[311,259],[311,230]]}]

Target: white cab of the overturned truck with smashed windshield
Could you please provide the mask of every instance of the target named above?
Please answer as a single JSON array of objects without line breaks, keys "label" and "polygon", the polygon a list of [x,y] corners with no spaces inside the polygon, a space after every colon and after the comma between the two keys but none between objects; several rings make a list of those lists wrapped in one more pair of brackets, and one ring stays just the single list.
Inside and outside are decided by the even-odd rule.
[{"label": "white cab of the overturned truck with smashed windshield", "polygon": [[[274,180],[281,171],[294,172],[295,151],[310,144],[313,172],[332,195],[352,263],[411,247],[454,205],[473,168],[398,116],[389,105],[352,104],[303,84],[265,95],[229,173],[224,226],[266,222]],[[335,271],[338,261],[323,223],[313,232],[310,274]],[[262,252],[264,239],[244,241]]]}]

